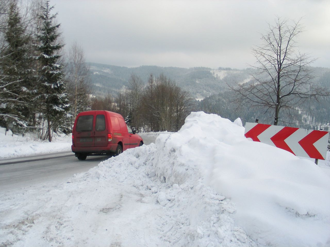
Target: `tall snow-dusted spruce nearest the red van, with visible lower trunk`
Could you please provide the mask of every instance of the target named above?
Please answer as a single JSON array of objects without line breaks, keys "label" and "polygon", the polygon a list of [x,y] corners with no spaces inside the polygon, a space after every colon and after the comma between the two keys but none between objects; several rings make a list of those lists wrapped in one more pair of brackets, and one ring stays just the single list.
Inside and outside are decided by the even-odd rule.
[{"label": "tall snow-dusted spruce nearest the red van, with visible lower trunk", "polygon": [[[58,64],[61,57],[59,51],[64,46],[58,42],[60,24],[54,24],[56,14],[50,14],[54,6],[49,6],[49,0],[42,6],[43,14],[39,16],[41,26],[35,44],[38,51],[38,90],[40,112],[47,120],[47,137],[52,138],[52,130],[59,126],[59,122],[67,117],[69,100],[66,94],[63,66]],[[45,137],[43,137],[45,138]]]}]

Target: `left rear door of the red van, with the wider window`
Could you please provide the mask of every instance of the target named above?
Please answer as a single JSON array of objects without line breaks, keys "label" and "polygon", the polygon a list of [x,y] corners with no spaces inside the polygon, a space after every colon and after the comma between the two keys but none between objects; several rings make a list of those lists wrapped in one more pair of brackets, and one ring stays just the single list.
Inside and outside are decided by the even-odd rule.
[{"label": "left rear door of the red van, with the wider window", "polygon": [[75,147],[94,147],[95,113],[88,112],[78,117],[74,131]]}]

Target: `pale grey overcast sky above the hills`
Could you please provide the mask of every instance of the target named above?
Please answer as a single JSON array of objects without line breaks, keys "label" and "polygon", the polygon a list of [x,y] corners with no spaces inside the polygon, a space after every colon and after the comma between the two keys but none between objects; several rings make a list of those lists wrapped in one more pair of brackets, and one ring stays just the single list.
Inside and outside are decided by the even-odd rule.
[{"label": "pale grey overcast sky above the hills", "polygon": [[330,68],[329,0],[51,0],[66,47],[77,41],[87,62],[137,67],[247,68],[251,47],[276,15],[298,20],[301,52]]}]

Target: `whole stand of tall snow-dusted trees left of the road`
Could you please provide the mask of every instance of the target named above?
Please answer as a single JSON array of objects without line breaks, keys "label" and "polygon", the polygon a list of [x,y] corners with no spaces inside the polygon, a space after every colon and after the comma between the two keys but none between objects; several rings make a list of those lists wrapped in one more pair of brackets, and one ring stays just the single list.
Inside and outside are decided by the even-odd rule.
[{"label": "whole stand of tall snow-dusted trees left of the road", "polygon": [[77,105],[90,109],[89,72],[77,44],[65,62],[49,0],[31,1],[25,12],[20,3],[0,0],[0,126],[34,129],[51,141],[56,132],[70,132]]}]

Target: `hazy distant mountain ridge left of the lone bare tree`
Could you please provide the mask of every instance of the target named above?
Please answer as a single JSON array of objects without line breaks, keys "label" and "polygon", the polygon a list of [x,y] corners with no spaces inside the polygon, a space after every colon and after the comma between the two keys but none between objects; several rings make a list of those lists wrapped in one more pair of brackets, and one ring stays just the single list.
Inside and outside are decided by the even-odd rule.
[{"label": "hazy distant mountain ridge left of the lone bare tree", "polygon": [[245,81],[250,79],[251,69],[211,69],[206,67],[178,68],[140,66],[136,68],[119,67],[113,65],[88,63],[91,71],[91,82],[96,95],[107,92],[116,94],[123,87],[129,85],[132,73],[147,83],[150,73],[157,77],[163,73],[167,78],[175,81],[178,86],[190,92],[194,98],[205,98],[226,88],[226,82]]}]

